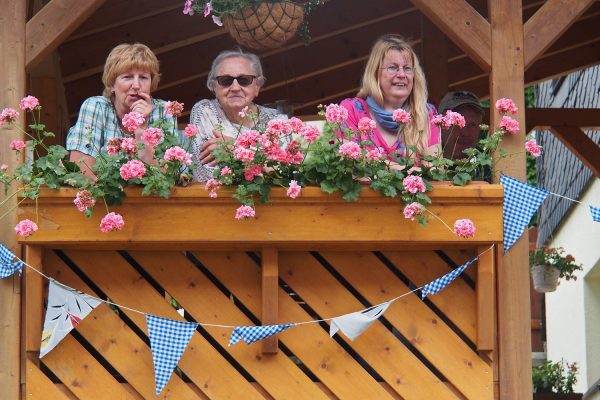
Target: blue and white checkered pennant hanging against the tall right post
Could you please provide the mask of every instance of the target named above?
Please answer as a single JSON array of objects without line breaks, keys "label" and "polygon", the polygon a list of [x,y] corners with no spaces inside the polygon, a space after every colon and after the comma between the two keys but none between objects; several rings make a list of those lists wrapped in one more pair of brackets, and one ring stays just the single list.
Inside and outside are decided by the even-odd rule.
[{"label": "blue and white checkered pennant hanging against the tall right post", "polygon": [[506,175],[500,177],[500,184],[504,187],[502,219],[506,253],[521,237],[549,192]]}]

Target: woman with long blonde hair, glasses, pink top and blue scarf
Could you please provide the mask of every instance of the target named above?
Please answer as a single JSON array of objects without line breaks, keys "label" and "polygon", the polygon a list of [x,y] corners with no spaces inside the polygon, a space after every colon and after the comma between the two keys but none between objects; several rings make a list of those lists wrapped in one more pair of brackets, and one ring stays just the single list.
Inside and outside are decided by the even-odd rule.
[{"label": "woman with long blonde hair, glasses, pink top and blue scarf", "polygon": [[[431,123],[437,112],[427,103],[425,74],[414,50],[399,35],[387,34],[377,39],[360,91],[341,105],[348,110],[349,128],[357,129],[364,117],[376,122],[371,141],[392,158],[408,155],[418,159],[419,155],[441,151],[440,129]],[[394,120],[394,111],[398,109],[410,114],[409,123]],[[412,146],[417,148],[417,155],[410,151]]]}]

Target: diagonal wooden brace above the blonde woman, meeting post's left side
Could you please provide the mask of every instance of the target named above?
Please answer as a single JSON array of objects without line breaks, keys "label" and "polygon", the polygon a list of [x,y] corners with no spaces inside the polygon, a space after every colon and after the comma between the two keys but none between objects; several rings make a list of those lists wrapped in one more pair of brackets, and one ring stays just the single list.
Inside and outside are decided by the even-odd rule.
[{"label": "diagonal wooden brace above the blonde woman, meeting post's left side", "polygon": [[492,65],[490,23],[465,0],[411,0],[484,71]]}]

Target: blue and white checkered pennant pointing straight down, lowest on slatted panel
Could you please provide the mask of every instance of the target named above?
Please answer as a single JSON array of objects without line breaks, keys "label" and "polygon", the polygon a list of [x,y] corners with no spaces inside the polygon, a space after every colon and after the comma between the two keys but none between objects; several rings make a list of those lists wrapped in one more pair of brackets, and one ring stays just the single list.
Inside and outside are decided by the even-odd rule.
[{"label": "blue and white checkered pennant pointing straight down, lowest on slatted panel", "polygon": [[196,322],[181,322],[146,314],[152,361],[154,362],[154,379],[156,395],[165,387],[175,366],[179,362],[185,348],[196,331]]}]

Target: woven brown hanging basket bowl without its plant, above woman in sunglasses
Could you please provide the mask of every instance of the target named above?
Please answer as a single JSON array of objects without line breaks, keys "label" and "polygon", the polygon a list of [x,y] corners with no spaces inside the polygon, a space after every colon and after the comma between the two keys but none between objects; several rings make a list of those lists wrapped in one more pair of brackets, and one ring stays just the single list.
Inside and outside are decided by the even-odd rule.
[{"label": "woven brown hanging basket bowl without its plant, above woman in sunglasses", "polygon": [[260,3],[233,16],[223,16],[223,23],[235,41],[253,50],[282,47],[294,37],[303,21],[304,7],[291,1]]}]

